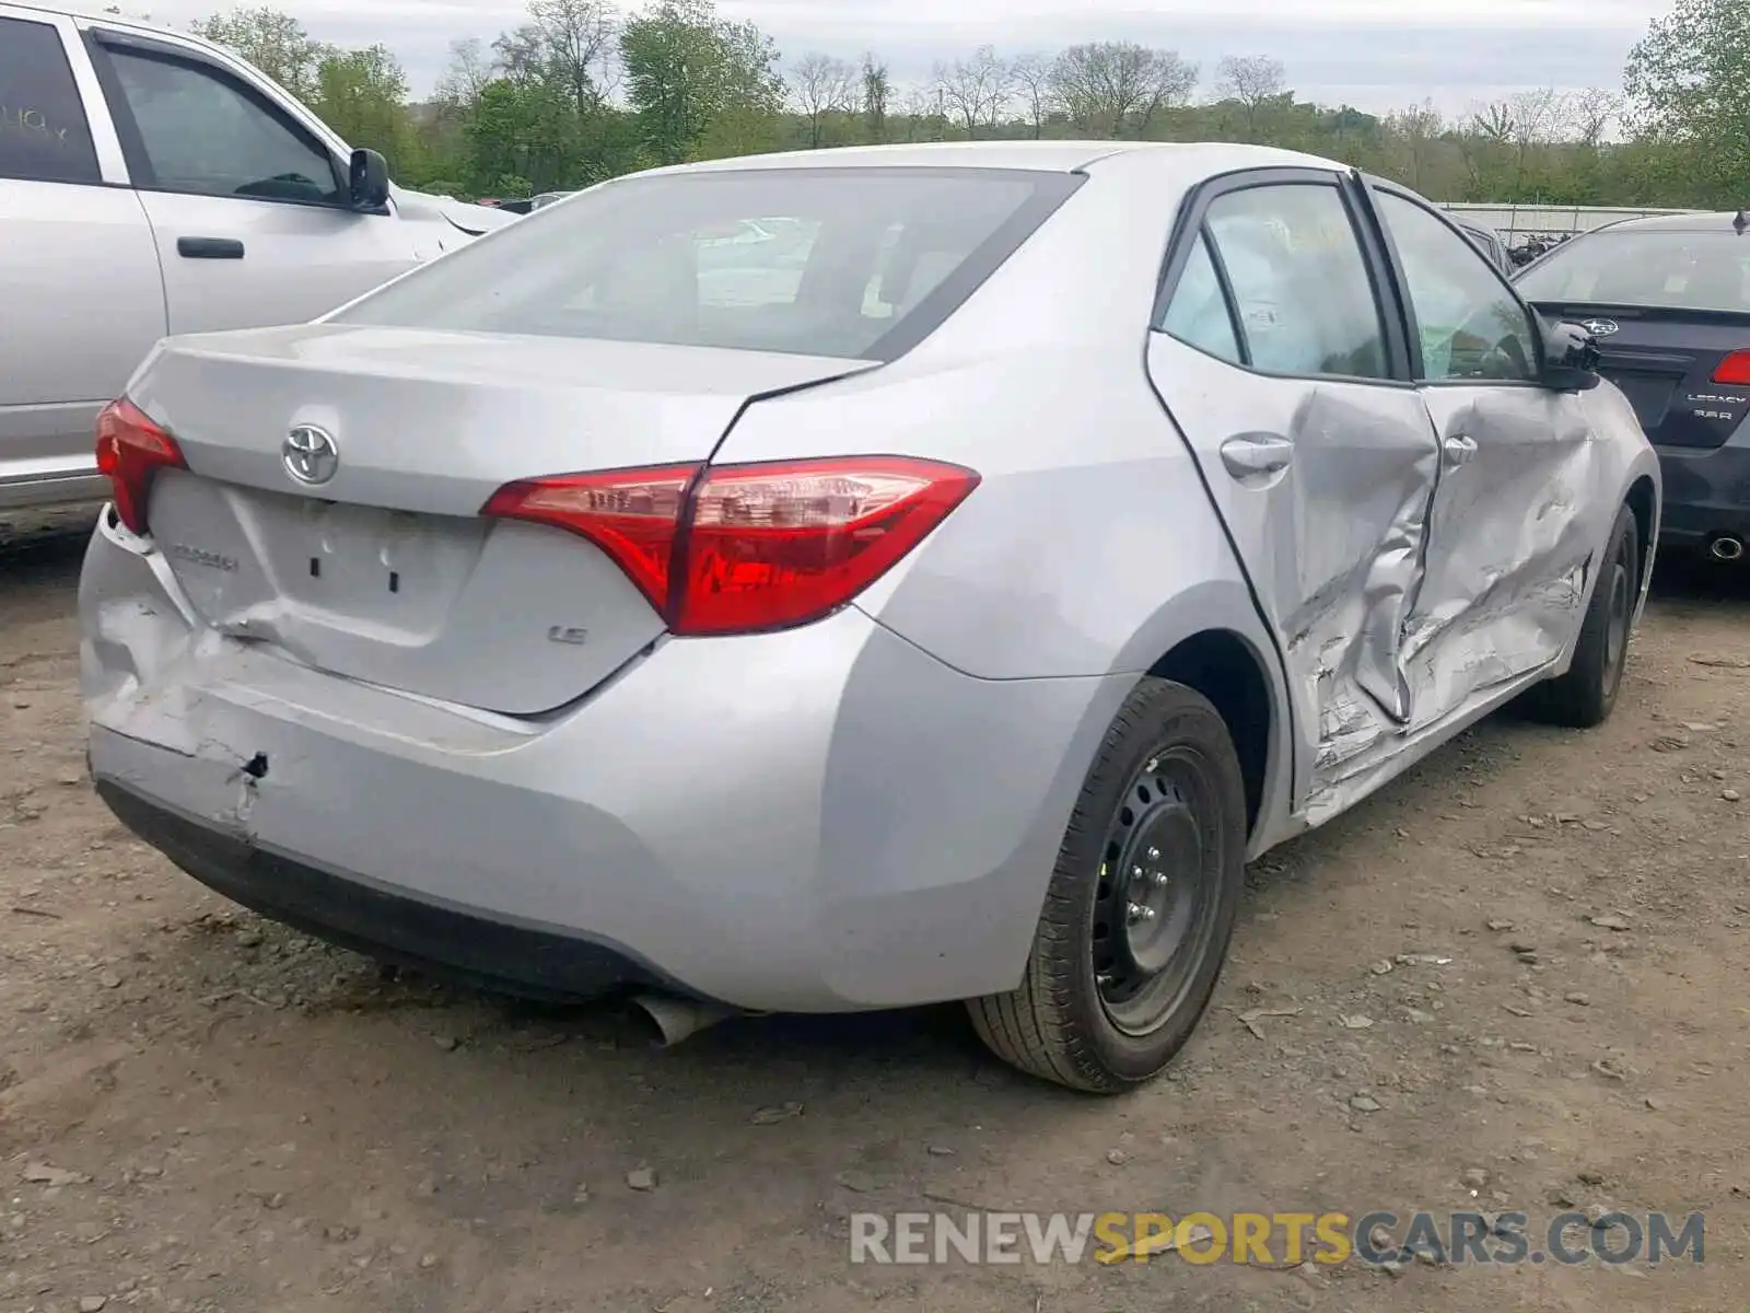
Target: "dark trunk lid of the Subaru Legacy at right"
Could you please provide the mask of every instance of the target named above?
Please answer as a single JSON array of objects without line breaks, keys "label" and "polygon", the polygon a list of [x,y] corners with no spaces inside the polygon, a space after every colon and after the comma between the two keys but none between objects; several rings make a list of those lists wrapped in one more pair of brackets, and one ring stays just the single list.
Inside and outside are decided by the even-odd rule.
[{"label": "dark trunk lid of the Subaru Legacy at right", "polygon": [[1538,305],[1596,333],[1598,371],[1622,389],[1654,446],[1722,446],[1750,413],[1750,387],[1715,383],[1713,371],[1750,350],[1750,313],[1610,305]]}]

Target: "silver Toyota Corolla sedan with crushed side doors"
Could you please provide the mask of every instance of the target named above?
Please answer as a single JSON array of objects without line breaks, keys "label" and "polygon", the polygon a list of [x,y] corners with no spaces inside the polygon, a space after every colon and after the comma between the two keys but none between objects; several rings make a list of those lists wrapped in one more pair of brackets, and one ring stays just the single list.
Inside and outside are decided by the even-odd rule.
[{"label": "silver Toyota Corolla sedan with crushed side doors", "polygon": [[966,1000],[1122,1091],[1248,858],[1510,700],[1610,714],[1661,483],[1591,364],[1421,198],[1283,151],[620,179],[152,354],[98,434],[91,772],[385,959]]}]

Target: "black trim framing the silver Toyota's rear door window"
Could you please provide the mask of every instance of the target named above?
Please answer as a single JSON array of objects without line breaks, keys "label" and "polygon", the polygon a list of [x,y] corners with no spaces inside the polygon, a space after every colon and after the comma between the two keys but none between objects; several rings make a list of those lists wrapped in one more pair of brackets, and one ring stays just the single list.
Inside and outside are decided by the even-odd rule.
[{"label": "black trim framing the silver Toyota's rear door window", "polygon": [[[1181,338],[1166,333],[1160,327],[1166,315],[1167,305],[1178,292],[1180,278],[1185,273],[1185,264],[1190,259],[1192,247],[1197,236],[1206,233],[1206,219],[1209,207],[1222,196],[1230,196],[1239,191],[1253,191],[1256,187],[1279,187],[1279,186],[1312,186],[1312,187],[1330,187],[1337,193],[1339,201],[1342,201],[1344,214],[1349,217],[1349,228],[1354,233],[1356,247],[1362,254],[1362,266],[1367,270],[1368,292],[1372,294],[1374,310],[1379,315],[1379,329],[1386,348],[1386,378],[1363,378],[1358,375],[1320,375],[1320,373],[1278,373],[1272,369],[1258,369],[1253,364],[1236,364],[1234,361],[1222,361],[1246,373],[1258,375],[1260,378],[1288,378],[1300,382],[1334,382],[1334,383],[1358,383],[1367,387],[1393,387],[1393,389],[1414,389],[1416,383],[1410,376],[1410,355],[1409,355],[1409,338],[1404,331],[1402,308],[1395,305],[1396,284],[1388,280],[1388,266],[1384,249],[1379,245],[1379,236],[1367,219],[1365,207],[1358,194],[1360,173],[1353,170],[1335,170],[1335,168],[1300,168],[1300,166],[1267,166],[1267,168],[1239,168],[1228,173],[1216,173],[1214,177],[1204,179],[1199,186],[1186,193],[1180,205],[1178,219],[1172,226],[1172,240],[1167,245],[1166,259],[1160,266],[1160,275],[1157,278],[1155,289],[1155,308],[1150,317],[1150,331],[1171,336],[1174,341],[1183,341]],[[1251,348],[1246,343],[1244,333],[1239,333],[1239,312],[1234,305],[1232,284],[1227,278],[1227,268],[1222,263],[1220,247],[1209,240],[1209,257],[1216,264],[1216,278],[1222,282],[1223,296],[1227,298],[1227,313],[1230,322],[1236,326],[1236,340],[1239,341],[1239,350],[1248,357]],[[1192,350],[1202,352],[1202,347],[1186,341]],[[1202,352],[1213,361],[1220,361],[1220,355],[1211,352]]]}]

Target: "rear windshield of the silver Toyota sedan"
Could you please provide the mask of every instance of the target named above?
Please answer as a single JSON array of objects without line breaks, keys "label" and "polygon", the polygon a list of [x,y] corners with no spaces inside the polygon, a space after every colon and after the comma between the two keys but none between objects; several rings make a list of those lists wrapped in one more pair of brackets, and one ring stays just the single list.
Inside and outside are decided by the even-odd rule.
[{"label": "rear windshield of the silver Toyota sedan", "polygon": [[948,168],[621,179],[332,322],[886,361],[954,313],[1078,180]]}]

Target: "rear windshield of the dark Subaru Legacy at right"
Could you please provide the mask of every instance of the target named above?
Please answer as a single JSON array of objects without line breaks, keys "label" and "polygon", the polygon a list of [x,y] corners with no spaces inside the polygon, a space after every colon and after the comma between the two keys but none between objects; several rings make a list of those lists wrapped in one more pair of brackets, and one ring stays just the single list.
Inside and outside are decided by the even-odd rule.
[{"label": "rear windshield of the dark Subaru Legacy at right", "polygon": [[1528,301],[1750,310],[1750,236],[1591,233],[1566,242],[1516,284]]}]

